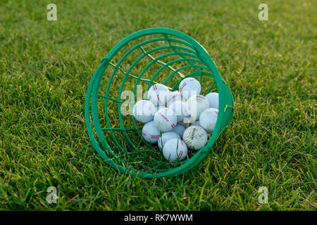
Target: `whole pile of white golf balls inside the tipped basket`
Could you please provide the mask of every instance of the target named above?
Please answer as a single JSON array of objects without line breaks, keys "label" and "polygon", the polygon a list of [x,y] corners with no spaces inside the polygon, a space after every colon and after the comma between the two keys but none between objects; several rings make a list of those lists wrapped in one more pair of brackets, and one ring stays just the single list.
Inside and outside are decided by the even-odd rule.
[{"label": "whole pile of white golf balls inside the tipped basket", "polygon": [[157,143],[170,162],[187,158],[189,149],[203,148],[216,127],[218,93],[200,94],[201,84],[189,77],[180,82],[179,91],[154,84],[147,99],[137,101],[133,107],[135,120],[145,123],[144,140]]}]

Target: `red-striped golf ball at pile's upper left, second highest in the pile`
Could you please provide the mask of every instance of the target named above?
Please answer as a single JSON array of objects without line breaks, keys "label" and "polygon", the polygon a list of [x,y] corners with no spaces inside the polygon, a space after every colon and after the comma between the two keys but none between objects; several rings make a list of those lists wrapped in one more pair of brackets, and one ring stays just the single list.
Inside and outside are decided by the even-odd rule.
[{"label": "red-striped golf ball at pile's upper left, second highest in the pile", "polygon": [[147,98],[154,105],[166,105],[169,92],[168,87],[164,84],[154,84],[147,92]]}]

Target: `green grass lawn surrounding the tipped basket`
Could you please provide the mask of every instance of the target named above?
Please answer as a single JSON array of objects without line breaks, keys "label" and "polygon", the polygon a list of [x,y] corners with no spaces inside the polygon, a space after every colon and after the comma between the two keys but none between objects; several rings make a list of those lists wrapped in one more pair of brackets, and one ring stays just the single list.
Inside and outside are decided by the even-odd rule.
[{"label": "green grass lawn surrounding the tipped basket", "polygon": [[[313,0],[1,1],[0,210],[316,210],[316,15]],[[149,27],[199,41],[235,98],[209,155],[170,179],[116,172],[85,125],[101,58]]]}]

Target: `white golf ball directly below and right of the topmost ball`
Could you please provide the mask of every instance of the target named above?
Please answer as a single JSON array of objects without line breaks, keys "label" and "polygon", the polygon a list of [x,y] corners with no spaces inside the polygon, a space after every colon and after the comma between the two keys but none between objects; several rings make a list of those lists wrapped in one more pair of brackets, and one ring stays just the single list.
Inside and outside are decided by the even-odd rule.
[{"label": "white golf ball directly below and right of the topmost ball", "polygon": [[201,95],[191,96],[186,102],[187,113],[190,115],[190,120],[195,121],[199,118],[202,112],[209,108],[209,101]]}]

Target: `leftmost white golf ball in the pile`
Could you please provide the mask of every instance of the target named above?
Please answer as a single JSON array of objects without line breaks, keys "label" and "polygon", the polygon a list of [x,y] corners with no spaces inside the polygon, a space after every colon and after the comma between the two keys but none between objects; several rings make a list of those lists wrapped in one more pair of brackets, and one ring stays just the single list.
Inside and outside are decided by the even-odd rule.
[{"label": "leftmost white golf ball in the pile", "polygon": [[132,114],[139,122],[149,122],[153,120],[156,108],[151,101],[141,100],[133,106]]}]

